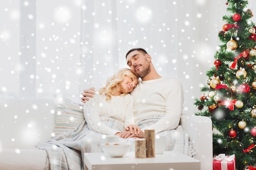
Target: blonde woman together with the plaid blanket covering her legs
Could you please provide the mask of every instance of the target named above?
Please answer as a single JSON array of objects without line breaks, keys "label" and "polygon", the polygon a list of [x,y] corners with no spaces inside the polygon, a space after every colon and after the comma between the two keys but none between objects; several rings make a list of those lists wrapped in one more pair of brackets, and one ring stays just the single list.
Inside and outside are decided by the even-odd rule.
[{"label": "blonde woman together with the plaid blanket covering her legs", "polygon": [[[138,77],[128,68],[120,69],[108,78],[106,85],[84,105],[83,121],[73,132],[56,135],[40,142],[38,149],[46,150],[50,170],[84,170],[83,153],[103,152],[100,145],[104,135],[120,135],[128,126],[131,133],[140,133],[135,126],[133,98],[130,92]],[[133,143],[133,138],[122,142]],[[134,146],[130,146],[133,151]]]}]

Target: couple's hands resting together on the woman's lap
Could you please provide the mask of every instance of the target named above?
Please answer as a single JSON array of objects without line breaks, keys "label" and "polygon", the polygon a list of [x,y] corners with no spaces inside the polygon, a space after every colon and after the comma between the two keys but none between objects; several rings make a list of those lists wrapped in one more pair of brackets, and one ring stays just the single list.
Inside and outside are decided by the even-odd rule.
[{"label": "couple's hands resting together on the woman's lap", "polygon": [[119,135],[122,138],[144,138],[144,132],[141,131],[140,127],[135,124],[129,124],[123,132],[121,132],[121,135]]}]

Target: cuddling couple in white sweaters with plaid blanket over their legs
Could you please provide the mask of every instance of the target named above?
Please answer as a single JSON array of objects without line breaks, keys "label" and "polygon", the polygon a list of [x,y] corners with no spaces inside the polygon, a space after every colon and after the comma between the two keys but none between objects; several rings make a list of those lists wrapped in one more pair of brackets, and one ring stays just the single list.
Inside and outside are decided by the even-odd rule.
[{"label": "cuddling couple in white sweaters with plaid blanket over their legs", "polygon": [[130,69],[111,76],[99,94],[93,89],[82,93],[86,121],[73,132],[37,145],[47,152],[48,169],[83,170],[83,153],[102,152],[103,134],[119,135],[121,142],[130,143],[130,151],[134,151],[134,138],[143,138],[144,129],[165,135],[165,150],[183,153],[184,132],[178,126],[183,105],[180,81],[161,77],[142,48],[128,51],[126,61]]}]

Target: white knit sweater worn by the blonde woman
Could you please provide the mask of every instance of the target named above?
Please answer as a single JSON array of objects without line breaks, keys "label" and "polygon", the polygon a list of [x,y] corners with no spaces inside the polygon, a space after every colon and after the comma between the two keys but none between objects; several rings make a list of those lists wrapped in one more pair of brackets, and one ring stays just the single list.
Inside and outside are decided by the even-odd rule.
[{"label": "white knit sweater worn by the blonde woman", "polygon": [[130,94],[125,96],[112,96],[110,101],[106,101],[105,95],[98,92],[93,98],[84,104],[85,120],[92,131],[105,135],[115,135],[119,132],[111,129],[101,122],[100,116],[109,116],[119,120],[126,127],[128,124],[135,124],[133,114],[133,98]]}]

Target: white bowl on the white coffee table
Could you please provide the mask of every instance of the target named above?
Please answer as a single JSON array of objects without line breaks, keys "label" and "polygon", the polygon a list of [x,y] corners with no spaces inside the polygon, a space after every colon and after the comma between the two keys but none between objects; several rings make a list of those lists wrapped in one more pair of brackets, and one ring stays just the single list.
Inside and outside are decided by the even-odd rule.
[{"label": "white bowl on the white coffee table", "polygon": [[122,157],[130,149],[130,144],[111,142],[101,144],[104,153],[108,154],[110,157]]}]

